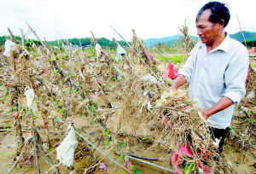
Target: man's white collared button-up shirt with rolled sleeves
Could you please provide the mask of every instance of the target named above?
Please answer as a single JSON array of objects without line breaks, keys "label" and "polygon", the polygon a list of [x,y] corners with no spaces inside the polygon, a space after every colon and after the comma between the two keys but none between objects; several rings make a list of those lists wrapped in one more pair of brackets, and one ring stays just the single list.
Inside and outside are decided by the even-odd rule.
[{"label": "man's white collared button-up shirt with rolled sleeves", "polygon": [[208,109],[223,96],[234,102],[223,111],[212,114],[207,119],[210,126],[218,129],[230,126],[235,104],[246,94],[248,66],[246,47],[227,34],[222,44],[208,54],[206,44],[196,44],[178,71],[189,83],[189,97],[198,107]]}]

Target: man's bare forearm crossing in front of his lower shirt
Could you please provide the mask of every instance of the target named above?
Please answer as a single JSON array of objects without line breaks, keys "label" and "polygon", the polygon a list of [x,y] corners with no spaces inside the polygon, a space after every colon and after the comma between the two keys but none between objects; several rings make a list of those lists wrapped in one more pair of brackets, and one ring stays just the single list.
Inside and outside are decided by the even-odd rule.
[{"label": "man's bare forearm crossing in front of his lower shirt", "polygon": [[218,113],[227,107],[230,107],[234,102],[227,96],[223,96],[215,105],[209,109],[202,109],[201,113],[204,119],[208,119],[212,114]]}]

